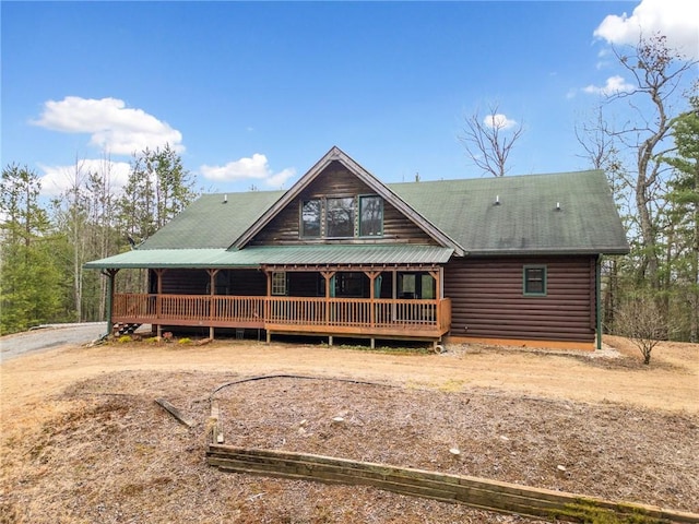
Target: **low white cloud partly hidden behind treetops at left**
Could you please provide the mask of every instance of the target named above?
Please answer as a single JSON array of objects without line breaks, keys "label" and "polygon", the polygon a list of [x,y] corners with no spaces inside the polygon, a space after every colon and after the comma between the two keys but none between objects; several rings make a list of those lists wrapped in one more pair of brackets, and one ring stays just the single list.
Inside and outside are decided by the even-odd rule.
[{"label": "low white cloud partly hidden behind treetops at left", "polygon": [[81,187],[84,187],[86,177],[91,172],[108,175],[109,186],[116,192],[126,186],[131,170],[131,165],[128,162],[103,160],[99,158],[79,160],[76,166],[39,165],[39,167],[44,171],[39,180],[42,182],[42,194],[45,196],[58,196],[74,186],[76,181]]}]

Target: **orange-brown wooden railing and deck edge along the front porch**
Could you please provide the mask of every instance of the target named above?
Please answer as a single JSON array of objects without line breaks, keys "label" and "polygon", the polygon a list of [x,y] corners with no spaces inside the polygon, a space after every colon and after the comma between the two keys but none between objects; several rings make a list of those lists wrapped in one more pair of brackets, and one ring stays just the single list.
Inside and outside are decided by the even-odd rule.
[{"label": "orange-brown wooden railing and deck edge along the front porch", "polygon": [[271,333],[434,340],[449,331],[451,300],[117,294],[111,320],[258,327]]}]

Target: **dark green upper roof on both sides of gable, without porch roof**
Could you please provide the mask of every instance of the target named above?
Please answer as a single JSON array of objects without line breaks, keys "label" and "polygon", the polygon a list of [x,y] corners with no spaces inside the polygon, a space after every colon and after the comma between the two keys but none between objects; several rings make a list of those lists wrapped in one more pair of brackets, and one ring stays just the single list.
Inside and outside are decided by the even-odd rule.
[{"label": "dark green upper roof on both sides of gable, without porch roof", "polygon": [[[600,170],[387,186],[471,254],[628,252]],[[226,249],[283,194],[205,194],[139,249]]]}]

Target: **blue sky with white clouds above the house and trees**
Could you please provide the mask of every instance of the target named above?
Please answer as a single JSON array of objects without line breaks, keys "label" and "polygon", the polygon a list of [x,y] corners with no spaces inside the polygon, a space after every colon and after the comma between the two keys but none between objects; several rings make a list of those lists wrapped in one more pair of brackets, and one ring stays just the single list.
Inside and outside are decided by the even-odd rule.
[{"label": "blue sky with white clouds above the house and trees", "polygon": [[584,169],[576,123],[630,81],[611,45],[696,55],[698,5],[3,1],[2,164],[46,193],[166,142],[206,192],[288,188],[333,145],[386,182],[481,177],[458,135],[497,104],[512,175]]}]

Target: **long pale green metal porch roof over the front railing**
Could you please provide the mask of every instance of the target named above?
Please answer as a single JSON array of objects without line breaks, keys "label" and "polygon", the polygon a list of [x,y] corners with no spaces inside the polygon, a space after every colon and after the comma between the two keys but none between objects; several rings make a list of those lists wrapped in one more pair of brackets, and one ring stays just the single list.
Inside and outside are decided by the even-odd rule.
[{"label": "long pale green metal porch roof over the front railing", "polygon": [[88,269],[260,267],[261,265],[443,264],[453,250],[438,246],[319,245],[225,249],[134,249],[85,264]]}]

